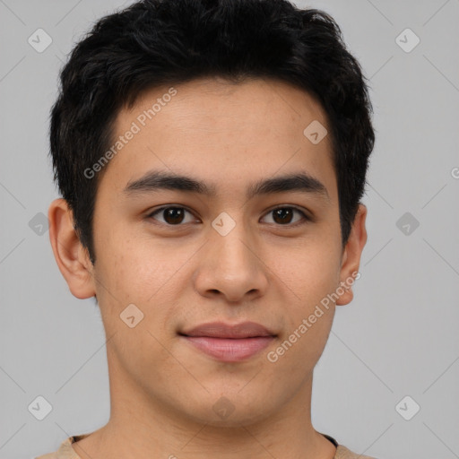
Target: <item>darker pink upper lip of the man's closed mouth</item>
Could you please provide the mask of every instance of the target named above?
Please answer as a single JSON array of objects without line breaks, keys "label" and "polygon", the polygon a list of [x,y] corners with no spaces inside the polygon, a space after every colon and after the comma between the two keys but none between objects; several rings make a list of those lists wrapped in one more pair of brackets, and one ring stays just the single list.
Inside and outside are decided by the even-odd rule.
[{"label": "darker pink upper lip of the man's closed mouth", "polygon": [[257,336],[275,336],[275,333],[256,322],[242,322],[230,325],[224,322],[209,322],[180,333],[186,336],[208,336],[212,338],[255,338]]}]

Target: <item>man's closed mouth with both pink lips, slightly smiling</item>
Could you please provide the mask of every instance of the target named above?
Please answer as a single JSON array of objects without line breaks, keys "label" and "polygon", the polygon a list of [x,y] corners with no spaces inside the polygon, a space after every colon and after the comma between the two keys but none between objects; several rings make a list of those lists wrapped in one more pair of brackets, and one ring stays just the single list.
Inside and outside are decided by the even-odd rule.
[{"label": "man's closed mouth with both pink lips, slightly smiling", "polygon": [[212,322],[178,334],[198,351],[224,362],[254,357],[277,337],[276,333],[255,322],[238,325]]}]

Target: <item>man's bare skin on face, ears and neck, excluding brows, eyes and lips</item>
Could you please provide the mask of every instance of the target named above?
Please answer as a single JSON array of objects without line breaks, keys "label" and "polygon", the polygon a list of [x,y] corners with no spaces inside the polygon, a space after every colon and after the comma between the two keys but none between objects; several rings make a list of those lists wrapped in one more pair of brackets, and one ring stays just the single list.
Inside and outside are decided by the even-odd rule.
[{"label": "man's bare skin on face, ears and neck, excluding brows, eyes and lips", "polygon": [[[170,459],[332,459],[336,448],[312,426],[310,405],[335,304],[275,363],[266,355],[359,270],[367,209],[359,205],[342,249],[330,139],[313,144],[303,134],[313,120],[327,126],[325,112],[306,92],[261,79],[201,79],[175,88],[177,95],[100,172],[94,266],[65,201],[49,207],[56,263],[76,298],[97,295],[109,339],[110,418],[74,450],[83,459],[150,459],[152,452]],[[132,109],[122,109],[116,137],[167,91],[145,91]],[[203,180],[217,195],[123,193],[152,169]],[[254,181],[299,171],[322,182],[328,199],[288,191],[247,201]],[[190,211],[181,226],[162,212],[149,216],[165,204]],[[272,211],[289,205],[314,221],[293,227],[303,219],[298,212],[290,223],[276,220]],[[226,236],[211,225],[221,212],[236,222]],[[347,289],[336,305],[351,299]],[[131,303],[144,315],[134,328],[119,317]],[[235,363],[212,359],[178,336],[214,320],[251,320],[278,336]],[[225,419],[212,409],[222,396],[234,408]]]}]

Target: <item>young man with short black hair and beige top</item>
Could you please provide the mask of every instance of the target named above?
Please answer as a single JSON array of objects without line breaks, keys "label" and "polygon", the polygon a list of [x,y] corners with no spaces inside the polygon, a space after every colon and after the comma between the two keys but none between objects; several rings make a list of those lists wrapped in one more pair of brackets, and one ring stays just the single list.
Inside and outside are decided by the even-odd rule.
[{"label": "young man with short black hair and beige top", "polygon": [[107,425],[40,458],[339,459],[313,370],[367,240],[358,62],[284,0],[147,0],[74,48],[52,110],[56,263],[107,336]]}]

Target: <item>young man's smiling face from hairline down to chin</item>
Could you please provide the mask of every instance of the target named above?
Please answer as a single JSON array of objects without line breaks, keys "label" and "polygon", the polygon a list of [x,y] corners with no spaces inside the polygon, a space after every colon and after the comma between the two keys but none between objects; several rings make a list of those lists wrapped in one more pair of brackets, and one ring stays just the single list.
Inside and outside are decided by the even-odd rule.
[{"label": "young man's smiling face from hairline down to chin", "polygon": [[119,113],[123,144],[96,172],[96,263],[77,251],[84,276],[58,261],[75,296],[97,295],[112,392],[226,425],[307,397],[330,295],[341,282],[337,304],[351,301],[366,238],[360,207],[342,249],[331,141],[311,142],[313,121],[328,129],[316,100],[260,79],[156,88]]}]

